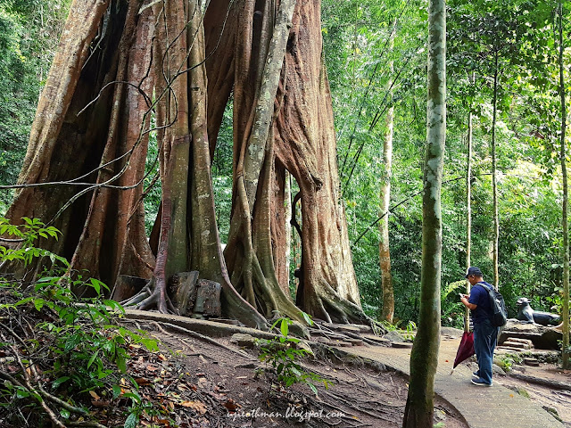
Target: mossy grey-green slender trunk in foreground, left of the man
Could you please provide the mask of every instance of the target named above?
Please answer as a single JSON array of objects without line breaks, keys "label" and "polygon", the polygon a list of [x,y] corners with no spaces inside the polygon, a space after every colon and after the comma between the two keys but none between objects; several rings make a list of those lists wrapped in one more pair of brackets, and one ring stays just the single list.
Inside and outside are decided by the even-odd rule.
[{"label": "mossy grey-green slender trunk in foreground, left of the man", "polygon": [[428,103],[422,210],[422,273],[418,333],[410,354],[410,386],[404,428],[433,426],[434,375],[440,346],[442,264],[441,188],[446,138],[446,8],[428,6]]}]

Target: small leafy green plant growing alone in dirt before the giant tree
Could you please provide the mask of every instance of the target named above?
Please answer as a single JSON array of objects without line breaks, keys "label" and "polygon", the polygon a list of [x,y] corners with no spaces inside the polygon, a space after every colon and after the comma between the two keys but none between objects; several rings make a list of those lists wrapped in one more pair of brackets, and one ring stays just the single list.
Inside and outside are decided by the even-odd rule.
[{"label": "small leafy green plant growing alone in dirt before the giant tree", "polygon": [[[311,321],[308,317],[305,319]],[[326,388],[331,383],[319,374],[308,373],[303,370],[299,359],[307,357],[309,351],[298,346],[301,342],[299,339],[288,336],[289,325],[291,324],[292,320],[287,317],[277,319],[272,325],[272,330],[279,325],[281,335],[271,340],[259,340],[260,355],[258,358],[262,362],[269,363],[276,370],[277,383],[280,385],[289,388],[294,383],[302,383],[307,385],[317,395],[318,390],[314,383],[323,383]]]}]

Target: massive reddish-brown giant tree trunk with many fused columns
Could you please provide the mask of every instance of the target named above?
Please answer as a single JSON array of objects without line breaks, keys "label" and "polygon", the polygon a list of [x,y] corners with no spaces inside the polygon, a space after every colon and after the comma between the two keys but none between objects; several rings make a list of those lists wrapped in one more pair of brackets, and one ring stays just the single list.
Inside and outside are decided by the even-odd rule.
[{"label": "massive reddish-brown giant tree trunk with many fused columns", "polygon": [[[21,174],[21,183],[30,185],[72,183],[22,189],[9,211],[12,220],[49,220],[65,207],[54,223],[64,239],[50,249],[71,259],[73,269],[89,271],[82,275],[109,284],[119,274],[150,278],[129,304],[174,310],[170,277],[198,270],[222,285],[225,315],[263,327],[264,317],[277,314],[302,319],[286,292],[288,278],[282,273],[279,284],[277,276],[288,263],[288,170],[302,189],[297,300],[327,321],[370,322],[360,309],[339,201],[319,7],[297,4],[292,23],[293,0],[282,0],[277,12],[271,2],[212,0],[204,16],[201,5],[189,0],[75,2]],[[211,153],[232,91],[227,270]],[[151,111],[154,130],[148,128]],[[151,131],[160,147],[162,184],[153,252],[141,205]]]}]

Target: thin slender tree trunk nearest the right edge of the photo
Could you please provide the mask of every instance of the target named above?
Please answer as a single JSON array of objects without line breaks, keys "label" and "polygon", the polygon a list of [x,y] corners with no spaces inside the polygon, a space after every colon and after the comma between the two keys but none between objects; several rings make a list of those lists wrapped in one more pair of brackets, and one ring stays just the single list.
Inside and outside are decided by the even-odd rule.
[{"label": "thin slender tree trunk nearest the right edge of the photo", "polygon": [[563,178],[563,344],[561,358],[563,368],[569,368],[569,226],[567,219],[569,191],[567,184],[567,105],[565,96],[565,78],[563,69],[563,4],[559,1],[559,97],[561,98],[561,174]]}]

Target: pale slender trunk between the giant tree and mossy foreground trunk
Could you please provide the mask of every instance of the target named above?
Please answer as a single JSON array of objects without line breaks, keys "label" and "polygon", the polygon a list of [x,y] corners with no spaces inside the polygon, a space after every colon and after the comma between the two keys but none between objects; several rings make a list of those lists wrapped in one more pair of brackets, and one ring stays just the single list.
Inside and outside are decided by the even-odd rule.
[{"label": "pale slender trunk between the giant tree and mossy foreground trunk", "polygon": [[[391,24],[391,36],[389,39],[388,49],[390,54],[394,47],[394,31],[396,30],[396,19]],[[393,60],[389,61],[389,72],[393,75]],[[379,243],[378,254],[381,267],[381,288],[383,289],[383,311],[381,319],[393,324],[394,316],[394,292],[393,292],[393,276],[391,275],[391,247],[389,244],[389,205],[391,202],[391,177],[393,177],[393,125],[394,125],[394,106],[393,106],[393,89],[391,82],[388,82],[389,99],[391,106],[386,112],[386,131],[385,141],[383,144],[383,162],[385,171],[381,178],[381,190],[379,199],[381,201],[381,215],[385,214],[379,223]]]}]

